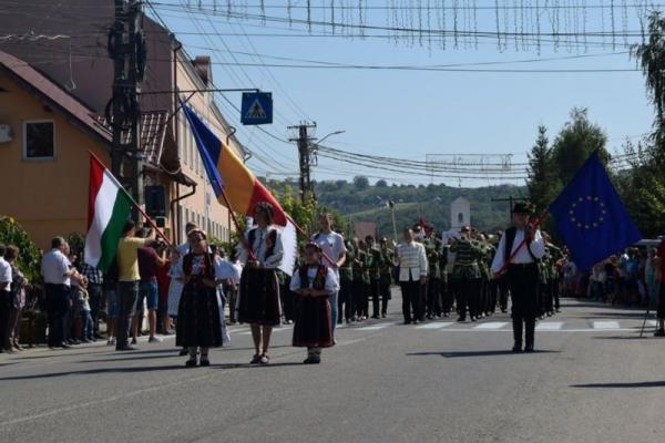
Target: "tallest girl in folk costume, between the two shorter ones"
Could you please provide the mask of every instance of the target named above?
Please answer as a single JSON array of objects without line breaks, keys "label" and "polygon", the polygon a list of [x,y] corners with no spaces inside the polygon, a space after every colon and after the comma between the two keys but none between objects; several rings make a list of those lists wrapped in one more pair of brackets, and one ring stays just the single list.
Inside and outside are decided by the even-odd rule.
[{"label": "tallest girl in folk costume, between the two shorter ones", "polygon": [[255,354],[250,364],[268,364],[273,327],[279,324],[279,281],[284,247],[279,231],[272,227],[273,206],[260,202],[254,207],[254,223],[239,250],[245,264],[237,300],[238,321],[249,323]]}]

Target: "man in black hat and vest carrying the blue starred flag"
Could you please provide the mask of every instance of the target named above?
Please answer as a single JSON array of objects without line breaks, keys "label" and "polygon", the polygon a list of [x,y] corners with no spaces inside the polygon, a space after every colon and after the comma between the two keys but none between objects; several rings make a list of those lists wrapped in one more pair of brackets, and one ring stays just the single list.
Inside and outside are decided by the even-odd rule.
[{"label": "man in black hat and vest carrying the blue starred flag", "polygon": [[513,207],[514,227],[505,230],[499,241],[492,272],[500,276],[508,272],[508,285],[512,296],[513,352],[533,352],[535,318],[540,307],[536,291],[539,285],[538,260],[545,255],[545,241],[540,230],[530,223],[532,206],[519,202]]}]

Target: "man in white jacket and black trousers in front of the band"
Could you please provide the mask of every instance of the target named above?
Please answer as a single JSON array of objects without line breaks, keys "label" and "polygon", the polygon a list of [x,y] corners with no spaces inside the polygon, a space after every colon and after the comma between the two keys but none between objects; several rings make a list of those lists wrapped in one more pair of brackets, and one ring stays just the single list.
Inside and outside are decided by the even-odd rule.
[{"label": "man in white jacket and black trousers in front of the band", "polygon": [[405,324],[418,323],[420,312],[421,287],[427,284],[427,254],[424,246],[415,241],[413,231],[405,229],[405,240],[397,247],[399,264],[399,285],[402,292],[402,313]]}]

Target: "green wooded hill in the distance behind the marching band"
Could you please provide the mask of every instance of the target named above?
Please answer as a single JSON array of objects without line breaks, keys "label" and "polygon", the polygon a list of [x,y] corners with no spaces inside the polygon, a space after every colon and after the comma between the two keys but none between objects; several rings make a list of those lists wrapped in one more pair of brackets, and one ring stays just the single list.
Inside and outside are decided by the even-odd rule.
[{"label": "green wooded hill in the distance behind the marching band", "polygon": [[[369,185],[366,181],[319,182],[315,192],[319,205],[337,209],[351,220],[376,222],[380,235],[392,235],[392,222],[388,200],[396,205],[397,229],[410,226],[420,217],[434,224],[437,230],[450,228],[450,203],[458,197],[471,204],[471,223],[479,230],[504,229],[509,223],[508,202],[493,198],[525,197],[523,186],[501,185],[479,188],[459,188],[446,185],[387,185],[379,181]],[[273,188],[282,184],[270,183]],[[296,183],[291,183],[294,188]]]}]

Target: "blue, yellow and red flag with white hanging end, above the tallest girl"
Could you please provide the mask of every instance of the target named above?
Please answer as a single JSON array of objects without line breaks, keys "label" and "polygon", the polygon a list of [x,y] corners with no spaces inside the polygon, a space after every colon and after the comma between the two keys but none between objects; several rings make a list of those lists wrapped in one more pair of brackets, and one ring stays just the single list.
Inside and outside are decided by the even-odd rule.
[{"label": "blue, yellow and red flag with white hanging end, above the tallest girl", "polygon": [[275,209],[273,222],[278,225],[282,231],[282,243],[284,245],[284,258],[280,269],[290,276],[296,262],[297,251],[296,228],[290,217],[284,212],[273,194],[245,166],[245,163],[213,133],[198,115],[186,104],[182,106],[217,199],[225,204],[222,195],[224,190],[231,206],[229,210],[249,217],[254,215],[254,207],[258,203],[267,202],[273,205]]}]

